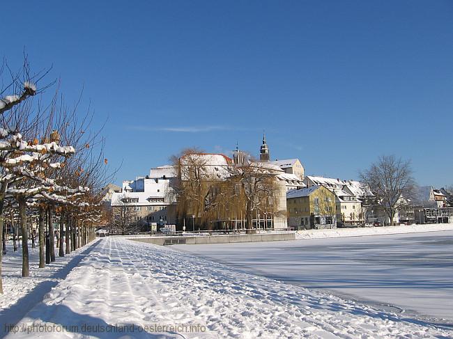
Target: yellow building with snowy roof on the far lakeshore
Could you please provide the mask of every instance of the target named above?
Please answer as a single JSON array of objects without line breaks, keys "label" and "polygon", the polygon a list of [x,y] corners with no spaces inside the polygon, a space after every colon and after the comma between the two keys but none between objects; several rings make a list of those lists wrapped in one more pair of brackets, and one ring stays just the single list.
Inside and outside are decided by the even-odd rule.
[{"label": "yellow building with snowy roof on the far lakeshore", "polygon": [[337,228],[335,194],[323,186],[286,193],[288,226],[295,229]]}]

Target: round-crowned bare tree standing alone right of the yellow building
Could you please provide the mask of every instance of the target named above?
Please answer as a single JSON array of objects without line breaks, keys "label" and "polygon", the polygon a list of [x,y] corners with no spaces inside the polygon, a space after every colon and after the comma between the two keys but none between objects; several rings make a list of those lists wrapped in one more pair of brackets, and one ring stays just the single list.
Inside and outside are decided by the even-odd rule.
[{"label": "round-crowned bare tree standing alone right of the yellow building", "polygon": [[415,194],[415,181],[410,161],[394,155],[383,155],[371,164],[369,169],[360,172],[360,180],[373,192],[390,223],[398,210],[407,206],[407,199]]}]

